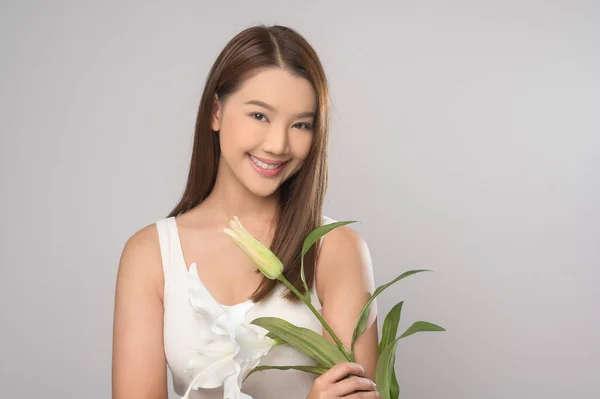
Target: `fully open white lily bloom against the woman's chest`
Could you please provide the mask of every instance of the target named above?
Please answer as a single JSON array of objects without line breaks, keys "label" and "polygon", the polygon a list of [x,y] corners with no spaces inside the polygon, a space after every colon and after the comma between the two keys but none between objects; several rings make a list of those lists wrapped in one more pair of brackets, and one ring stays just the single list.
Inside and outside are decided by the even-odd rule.
[{"label": "fully open white lily bloom against the woman's chest", "polygon": [[241,392],[242,381],[274,344],[266,330],[244,322],[254,303],[222,306],[214,301],[200,281],[195,263],[190,266],[188,283],[189,303],[202,327],[192,346],[196,353],[186,369],[194,378],[182,399],[188,399],[192,389],[221,385],[224,399],[252,399]]}]

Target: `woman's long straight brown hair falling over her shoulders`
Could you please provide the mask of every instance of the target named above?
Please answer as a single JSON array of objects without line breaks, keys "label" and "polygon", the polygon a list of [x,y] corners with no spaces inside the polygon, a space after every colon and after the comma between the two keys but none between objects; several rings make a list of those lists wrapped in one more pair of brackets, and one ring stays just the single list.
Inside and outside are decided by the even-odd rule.
[{"label": "woman's long straight brown hair falling over her shoulders", "polygon": [[[218,134],[211,130],[215,93],[219,101],[234,93],[258,68],[284,68],[306,78],[317,95],[312,147],[300,170],[279,187],[277,225],[271,250],[284,264],[284,275],[304,292],[300,278],[300,256],[306,236],[321,225],[327,190],[327,143],[329,136],[329,89],[325,72],[315,50],[296,31],[285,26],[254,26],[238,33],[225,46],[213,64],[200,100],[188,181],[180,202],[169,217],[197,206],[212,191],[220,157]],[[319,243],[305,255],[308,286],[315,278]],[[263,278],[252,295],[265,298],[277,280]],[[291,301],[297,297],[288,290]]]}]

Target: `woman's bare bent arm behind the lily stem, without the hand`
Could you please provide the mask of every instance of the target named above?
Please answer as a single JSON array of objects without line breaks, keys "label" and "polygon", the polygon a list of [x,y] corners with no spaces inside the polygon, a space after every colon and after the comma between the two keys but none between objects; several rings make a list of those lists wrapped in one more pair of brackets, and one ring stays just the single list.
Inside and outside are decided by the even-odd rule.
[{"label": "woman's bare bent arm behind the lily stem, without the hand", "polygon": [[[323,239],[317,264],[323,318],[350,349],[358,315],[375,289],[369,250],[353,229],[338,227]],[[324,334],[333,342],[327,332]],[[364,367],[372,381],[375,381],[377,346],[377,304],[373,301],[367,329],[354,345],[355,361]]]}]

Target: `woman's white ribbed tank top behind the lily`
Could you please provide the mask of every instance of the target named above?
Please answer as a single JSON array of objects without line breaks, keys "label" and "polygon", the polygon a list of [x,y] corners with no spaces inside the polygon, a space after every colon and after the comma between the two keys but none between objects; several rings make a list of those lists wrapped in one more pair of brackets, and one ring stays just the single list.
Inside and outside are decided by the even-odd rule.
[{"label": "woman's white ribbed tank top behind the lily", "polygon": [[[331,221],[323,217],[323,221]],[[186,372],[189,360],[196,354],[190,348],[194,337],[203,327],[202,322],[195,314],[189,299],[190,273],[196,273],[195,268],[188,268],[184,261],[179,232],[175,217],[164,218],[156,222],[164,273],[164,349],[167,365],[173,377],[175,392],[183,396],[193,379],[193,375]],[[196,276],[193,276],[194,278]],[[196,278],[199,281],[199,278]],[[314,280],[313,280],[314,281]],[[210,292],[201,282],[201,295],[206,301],[215,306],[220,304],[212,297]],[[310,328],[319,334],[323,327],[308,307],[302,303],[290,303],[281,298],[285,286],[278,283],[274,295],[254,304],[245,316],[244,323],[263,317],[280,317],[297,326]],[[310,289],[314,307],[321,312],[321,302],[313,286]],[[298,352],[289,345],[279,345],[272,348],[260,361],[260,365],[315,365],[315,362]],[[252,396],[253,399],[306,399],[316,375],[296,370],[264,370],[256,372],[243,383],[241,391]],[[190,399],[222,399],[223,387],[200,388],[192,390]]]}]

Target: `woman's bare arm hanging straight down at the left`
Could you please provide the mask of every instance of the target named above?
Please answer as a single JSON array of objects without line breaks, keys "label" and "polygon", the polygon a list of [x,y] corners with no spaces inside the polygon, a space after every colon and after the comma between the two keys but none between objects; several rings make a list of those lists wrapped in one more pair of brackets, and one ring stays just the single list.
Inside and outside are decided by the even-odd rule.
[{"label": "woman's bare arm hanging straight down at the left", "polygon": [[162,261],[154,225],[125,244],[115,292],[112,397],[166,399]]}]

